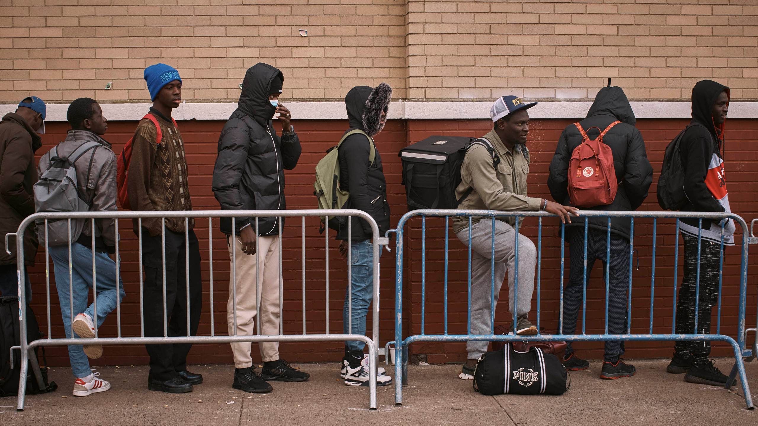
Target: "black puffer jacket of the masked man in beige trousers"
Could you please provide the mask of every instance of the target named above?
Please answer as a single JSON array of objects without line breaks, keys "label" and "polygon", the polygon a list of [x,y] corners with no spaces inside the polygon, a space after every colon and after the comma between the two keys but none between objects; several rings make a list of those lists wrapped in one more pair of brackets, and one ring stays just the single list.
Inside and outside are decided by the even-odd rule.
[{"label": "black puffer jacket of the masked man in beige trousers", "polygon": [[[271,82],[283,79],[280,70],[258,63],[250,67],[242,84],[240,103],[218,138],[213,170],[213,192],[221,210],[283,210],[284,169],[295,168],[300,158],[296,134],[277,136],[271,125],[276,108],[268,102]],[[235,233],[255,218],[235,219]],[[221,232],[232,233],[231,218],[221,218]],[[277,218],[259,218],[260,235],[279,233]]]}]

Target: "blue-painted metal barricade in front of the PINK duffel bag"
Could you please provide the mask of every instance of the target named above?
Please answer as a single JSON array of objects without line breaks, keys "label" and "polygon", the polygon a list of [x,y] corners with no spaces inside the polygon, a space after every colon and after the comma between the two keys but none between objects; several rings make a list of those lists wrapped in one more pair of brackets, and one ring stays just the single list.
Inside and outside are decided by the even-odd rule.
[{"label": "blue-painted metal barricade in front of the PINK duffel bag", "polygon": [[[403,249],[404,249],[404,230],[406,223],[411,219],[415,217],[421,217],[421,334],[415,334],[408,337],[403,338],[402,331],[403,331],[403,309],[402,309],[402,302],[403,302]],[[463,217],[468,220],[468,317],[467,317],[467,327],[465,333],[450,333],[448,328],[448,282],[449,282],[449,271],[448,271],[448,265],[450,262],[449,258],[449,219],[453,217]],[[471,223],[472,218],[490,218],[492,222],[492,230],[491,230],[491,250],[492,255],[490,258],[494,258],[494,250],[495,250],[495,218],[512,218],[513,219],[513,228],[515,230],[515,282],[513,283],[513,286],[515,287],[513,293],[515,295],[518,295],[518,236],[519,236],[519,227],[522,226],[523,221],[525,218],[537,218],[538,224],[537,224],[537,240],[536,240],[536,251],[537,251],[537,259],[536,259],[536,275],[535,275],[535,283],[534,288],[536,289],[536,321],[537,321],[537,330],[540,329],[540,291],[544,289],[543,286],[540,286],[540,281],[542,279],[541,276],[541,266],[542,266],[542,252],[543,252],[543,218],[548,217],[554,217],[554,215],[551,215],[545,211],[491,211],[491,210],[415,210],[415,211],[409,211],[406,213],[406,215],[403,215],[402,218],[400,218],[397,229],[393,230],[392,232],[397,233],[396,238],[396,293],[395,293],[395,311],[396,311],[396,324],[395,324],[395,341],[394,346],[396,348],[395,351],[395,402],[396,405],[402,405],[402,386],[407,384],[407,375],[408,375],[408,348],[411,343],[414,342],[466,342],[466,341],[528,341],[528,340],[535,340],[534,336],[518,336],[515,334],[494,334],[494,317],[495,317],[495,282],[494,282],[494,272],[491,273],[491,292],[490,292],[490,306],[491,306],[491,325],[490,325],[490,334],[471,334]],[[427,281],[427,275],[428,271],[430,269],[427,267],[427,218],[443,218],[444,219],[444,258],[442,259],[442,265],[443,265],[443,271],[440,271],[439,262],[437,262],[437,268],[434,269],[434,273],[438,274],[438,277],[442,277],[443,279],[443,295],[440,296],[439,294],[436,295],[437,302],[440,302],[440,299],[443,302],[443,327],[440,326],[440,324],[437,324],[438,328],[443,328],[443,334],[428,334],[427,330],[428,327],[425,327],[425,306],[427,304],[428,296],[426,296],[427,288],[426,285]],[[610,236],[611,236],[611,229],[610,229],[610,223],[611,218],[630,218],[631,221],[631,235],[629,239],[629,284],[628,284],[628,301],[627,301],[627,309],[629,312],[629,315],[627,315],[627,320],[625,321],[625,334],[609,334],[608,333],[608,321],[609,321],[609,309],[608,309],[608,300],[609,300],[609,264],[610,262],[606,262],[606,271],[605,271],[605,332],[603,334],[587,334],[586,329],[586,317],[587,317],[587,218],[607,218],[608,222],[606,224],[606,229],[600,232],[606,233],[606,259],[609,259],[610,254]],[[644,328],[647,329],[647,333],[644,334],[632,334],[632,327],[631,327],[631,306],[632,306],[632,297],[631,297],[631,290],[632,290],[632,258],[633,258],[633,252],[634,252],[634,219],[635,218],[651,218],[653,221],[652,226],[652,260],[651,260],[651,275],[650,275],[650,321],[648,324],[648,321],[645,321]],[[658,227],[658,220],[661,218],[672,218],[675,219],[675,260],[674,260],[674,292],[673,292],[673,317],[672,317],[672,327],[671,327],[671,333],[654,333],[653,332],[653,309],[654,309],[654,301],[655,301],[655,283],[656,283],[656,230]],[[723,229],[724,229],[724,221],[722,219],[733,219],[735,223],[740,224],[742,227],[742,241],[741,241],[741,269],[740,269],[740,290],[739,290],[739,301],[738,301],[738,312],[737,312],[737,324],[738,324],[738,333],[737,340],[735,338],[729,337],[728,335],[722,334],[722,324],[721,324],[721,308],[722,308],[722,290],[721,290],[721,277],[719,274],[719,292],[718,292],[718,302],[717,302],[717,312],[718,312],[718,320],[716,322],[716,333],[715,334],[697,334],[697,309],[698,309],[698,300],[700,297],[700,268],[697,268],[697,283],[695,283],[695,315],[694,315],[694,329],[692,330],[692,334],[681,334],[676,333],[675,330],[675,318],[676,318],[676,297],[677,297],[677,270],[678,270],[678,255],[679,255],[679,237],[678,234],[680,232],[680,219],[682,218],[688,218],[688,219],[694,219],[698,221],[698,227],[697,227],[697,238],[698,238],[698,244],[697,244],[697,250],[698,253],[700,253],[700,243],[702,240],[702,232],[703,232],[703,219],[716,219],[718,221],[721,221],[721,229],[722,229],[722,236],[721,236],[721,247],[720,247],[720,259],[719,259],[719,265],[722,266],[724,262],[724,235],[723,235]],[[747,235],[747,224],[745,224],[745,221],[739,217],[738,215],[734,214],[727,214],[727,213],[698,213],[698,212],[675,212],[675,211],[580,211],[579,216],[572,217],[573,221],[579,221],[579,224],[581,224],[581,221],[584,221],[584,283],[582,288],[582,305],[581,305],[581,312],[582,312],[582,323],[581,323],[581,334],[579,334],[579,330],[577,330],[578,334],[563,334],[563,295],[564,295],[564,269],[565,269],[565,224],[559,224],[559,237],[560,237],[560,309],[559,309],[559,333],[558,334],[540,334],[536,340],[543,340],[543,341],[568,341],[568,342],[576,342],[576,341],[640,341],[640,340],[653,340],[653,341],[661,341],[661,340],[671,340],[671,341],[696,341],[696,340],[709,340],[709,341],[722,341],[725,343],[728,343],[731,345],[731,348],[734,350],[735,354],[735,365],[734,368],[731,369],[731,374],[729,376],[729,379],[727,381],[728,384],[730,384],[735,379],[735,375],[739,374],[740,381],[742,383],[742,390],[744,392],[744,398],[745,402],[747,404],[748,409],[753,409],[753,401],[750,397],[750,389],[747,384],[747,378],[745,376],[745,369],[744,369],[744,363],[742,359],[742,355],[745,349],[745,309],[746,309],[746,295],[747,295],[747,247],[748,247],[748,235]],[[484,225],[489,227],[489,225]],[[553,225],[551,225],[553,226]],[[441,229],[441,227],[440,227]],[[553,228],[554,229],[554,228]],[[440,230],[441,233],[441,230]],[[524,236],[522,236],[524,238]],[[487,236],[487,239],[490,239],[490,236]],[[457,240],[457,238],[456,238]],[[418,243],[418,242],[416,242]],[[464,243],[465,244],[465,243]],[[466,245],[466,244],[465,244]],[[581,249],[581,248],[580,248]],[[437,255],[437,261],[439,261],[439,257],[441,255]],[[459,256],[463,257],[463,256]],[[485,256],[486,257],[486,256]],[[494,260],[491,260],[491,266],[490,270],[494,271]],[[700,254],[697,255],[697,265],[700,265]],[[440,274],[441,272],[441,274]],[[458,277],[459,283],[466,283],[465,277]],[[460,291],[460,293],[463,293],[463,291]],[[465,298],[463,294],[459,295],[460,299]],[[465,299],[461,302],[465,302]],[[514,307],[517,306],[517,301],[513,301]],[[661,309],[661,308],[659,308]],[[515,323],[516,315],[515,312],[517,312],[517,309],[513,309],[513,321]],[[437,313],[437,315],[439,315]],[[463,320],[463,317],[460,316],[461,321]],[[453,324],[461,325],[462,324]],[[578,328],[577,324],[577,328]],[[401,380],[402,378],[402,380]],[[727,385],[727,388],[730,387]]]}]

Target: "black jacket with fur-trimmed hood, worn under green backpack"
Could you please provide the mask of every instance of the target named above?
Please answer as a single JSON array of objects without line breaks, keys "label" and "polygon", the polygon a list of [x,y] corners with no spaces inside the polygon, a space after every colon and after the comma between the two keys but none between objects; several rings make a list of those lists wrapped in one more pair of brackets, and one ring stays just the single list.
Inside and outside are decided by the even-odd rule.
[{"label": "black jacket with fur-trimmed hood, worn under green backpack", "polygon": [[[381,112],[386,112],[389,106],[387,89],[391,93],[391,89],[386,84],[377,87],[377,89],[371,89],[369,86],[357,86],[350,89],[345,96],[350,128],[345,133],[350,130],[363,130],[369,136],[374,136],[381,130],[379,125]],[[371,215],[379,225],[380,236],[384,236],[384,233],[390,229],[387,183],[384,180],[384,171],[382,171],[381,155],[379,155],[375,145],[374,163],[368,164],[368,155],[371,149],[368,143],[366,136],[355,134],[348,136],[340,146],[338,154],[340,188],[347,189],[350,193],[347,205],[344,208],[355,208]],[[351,220],[353,241],[364,241],[371,238],[371,227],[368,222],[359,218],[352,218]],[[345,226],[337,231],[337,240],[347,239],[348,228]]]}]

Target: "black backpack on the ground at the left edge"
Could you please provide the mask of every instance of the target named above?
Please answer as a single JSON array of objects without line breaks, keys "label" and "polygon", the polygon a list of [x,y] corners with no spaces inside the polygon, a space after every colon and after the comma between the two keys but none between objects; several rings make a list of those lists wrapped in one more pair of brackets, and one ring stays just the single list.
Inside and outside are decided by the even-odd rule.
[{"label": "black backpack on the ground at the left edge", "polygon": [[[18,381],[21,372],[21,354],[19,351],[14,352],[13,365],[11,365],[11,346],[18,346],[21,342],[19,334],[20,325],[18,323],[18,298],[17,297],[0,297],[0,396],[14,396],[18,394]],[[42,337],[39,333],[39,324],[34,312],[27,305],[27,342],[37,340]],[[34,353],[37,355],[37,349]],[[42,356],[44,358],[44,350]],[[39,360],[39,357],[37,358]],[[46,393],[58,389],[55,382],[48,383],[47,362],[45,366],[40,366],[42,371],[42,382],[45,384],[44,389],[40,389],[32,368],[27,374],[27,393]]]}]

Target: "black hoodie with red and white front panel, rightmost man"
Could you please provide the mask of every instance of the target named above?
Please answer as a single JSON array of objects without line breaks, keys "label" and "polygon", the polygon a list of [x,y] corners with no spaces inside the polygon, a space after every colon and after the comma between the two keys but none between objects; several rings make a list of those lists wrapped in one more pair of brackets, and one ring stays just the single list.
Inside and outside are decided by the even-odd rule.
[{"label": "black hoodie with red and white front panel, rightmost man", "polygon": [[[692,121],[679,148],[688,199],[681,211],[730,211],[722,158],[724,124],[716,127],[712,116],[722,92],[729,96],[729,88],[713,80],[699,81],[692,89]],[[697,219],[682,222],[682,232],[697,236]],[[731,241],[733,233],[734,224],[727,224],[725,242]],[[703,237],[720,242],[721,226],[703,219]]]}]

